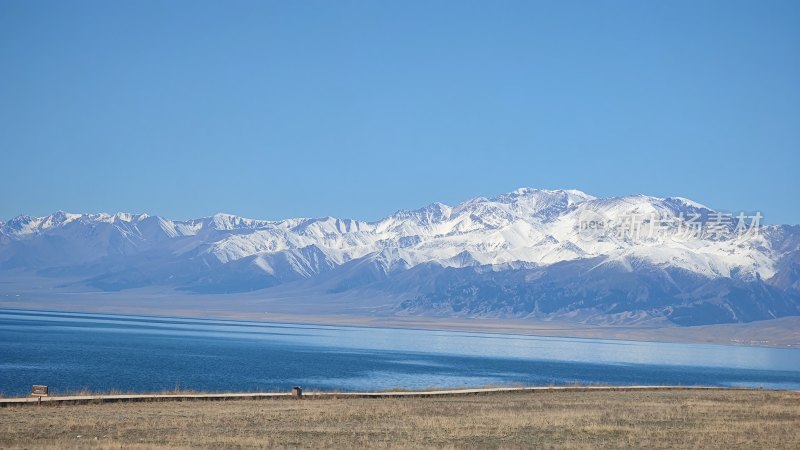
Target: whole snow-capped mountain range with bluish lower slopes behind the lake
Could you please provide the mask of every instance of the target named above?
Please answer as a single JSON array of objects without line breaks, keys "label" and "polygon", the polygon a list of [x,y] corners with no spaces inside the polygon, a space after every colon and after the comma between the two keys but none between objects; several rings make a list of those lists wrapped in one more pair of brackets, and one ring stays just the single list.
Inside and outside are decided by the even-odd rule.
[{"label": "whole snow-capped mountain range with bluish lower slopes behind the lake", "polygon": [[800,315],[800,227],[759,219],[677,197],[528,188],[374,222],[57,212],[0,222],[0,275],[103,291],[296,287],[320,302],[391,298],[393,314],[677,324]]}]

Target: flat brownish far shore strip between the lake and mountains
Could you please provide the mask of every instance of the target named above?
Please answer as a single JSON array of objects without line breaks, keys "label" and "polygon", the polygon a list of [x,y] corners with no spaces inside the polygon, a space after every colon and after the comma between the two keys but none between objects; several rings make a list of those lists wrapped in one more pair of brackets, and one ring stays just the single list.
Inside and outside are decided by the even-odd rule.
[{"label": "flat brownish far shore strip between the lake and mountains", "polygon": [[526,319],[452,318],[428,316],[365,316],[353,314],[287,314],[203,309],[155,309],[131,305],[34,304],[2,302],[0,310],[63,314],[114,314],[171,319],[230,320],[254,323],[322,325],[361,328],[488,333],[571,339],[602,339],[675,344],[703,344],[767,348],[800,348],[800,317],[742,324],[694,327],[586,325]]}]

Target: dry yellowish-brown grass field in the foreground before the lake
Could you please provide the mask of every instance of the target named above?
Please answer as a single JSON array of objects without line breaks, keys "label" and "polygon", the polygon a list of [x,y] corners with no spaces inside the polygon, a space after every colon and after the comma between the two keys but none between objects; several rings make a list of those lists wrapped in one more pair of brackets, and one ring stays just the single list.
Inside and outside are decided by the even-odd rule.
[{"label": "dry yellowish-brown grass field in the foreground before the lake", "polygon": [[546,391],[0,409],[2,448],[800,448],[800,393]]}]

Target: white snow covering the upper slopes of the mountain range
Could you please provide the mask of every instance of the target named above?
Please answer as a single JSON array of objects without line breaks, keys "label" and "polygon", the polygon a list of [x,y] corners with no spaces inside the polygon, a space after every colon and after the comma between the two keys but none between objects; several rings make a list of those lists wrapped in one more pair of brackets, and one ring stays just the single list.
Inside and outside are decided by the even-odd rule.
[{"label": "white snow covering the upper slopes of the mountain range", "polygon": [[[162,251],[210,258],[219,264],[249,258],[249,264],[265,274],[286,269],[303,277],[313,276],[327,265],[370,255],[386,268],[428,262],[448,267],[519,262],[546,266],[600,256],[607,264],[632,267],[636,261],[646,261],[710,278],[767,279],[775,273],[779,255],[763,235],[679,236],[678,229],[687,224],[688,216],[698,212],[713,211],[679,197],[595,198],[576,190],[523,188],[455,206],[432,203],[374,222],[332,217],[267,221],[230,214],[173,221],[146,214],[57,212],[46,217],[19,216],[2,224],[0,233],[9,242],[41,236],[79,242],[76,254],[84,262]],[[625,226],[627,218],[656,217],[668,223],[669,232],[587,238],[580,228],[587,217],[608,220],[616,224],[615,231]],[[2,249],[0,246],[0,262],[4,256],[11,258]],[[283,256],[270,256],[278,254]],[[59,255],[57,261],[70,257]],[[47,258],[47,254],[41,255],[41,260]]]}]

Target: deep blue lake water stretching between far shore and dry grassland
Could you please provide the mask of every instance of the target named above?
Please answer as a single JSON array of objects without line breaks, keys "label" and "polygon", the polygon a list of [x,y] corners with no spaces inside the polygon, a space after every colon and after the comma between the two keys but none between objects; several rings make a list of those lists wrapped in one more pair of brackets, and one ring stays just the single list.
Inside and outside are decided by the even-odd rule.
[{"label": "deep blue lake water stretching between far shore and dry grassland", "polygon": [[800,389],[800,349],[0,309],[0,393],[485,385]]}]

